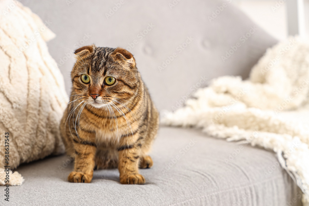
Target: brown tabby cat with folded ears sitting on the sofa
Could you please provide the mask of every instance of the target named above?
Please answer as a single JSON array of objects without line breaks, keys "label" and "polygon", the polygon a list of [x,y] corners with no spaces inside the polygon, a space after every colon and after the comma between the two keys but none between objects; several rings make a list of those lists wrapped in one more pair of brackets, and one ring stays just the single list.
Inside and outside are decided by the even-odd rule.
[{"label": "brown tabby cat with folded ears sitting on the sofa", "polygon": [[76,49],[72,93],[60,130],[75,158],[69,182],[90,183],[93,170],[117,168],[122,184],[144,184],[139,168],[150,168],[147,154],[159,113],[142,81],[133,55],[124,48]]}]

